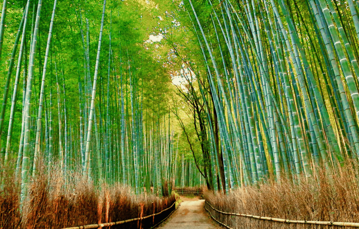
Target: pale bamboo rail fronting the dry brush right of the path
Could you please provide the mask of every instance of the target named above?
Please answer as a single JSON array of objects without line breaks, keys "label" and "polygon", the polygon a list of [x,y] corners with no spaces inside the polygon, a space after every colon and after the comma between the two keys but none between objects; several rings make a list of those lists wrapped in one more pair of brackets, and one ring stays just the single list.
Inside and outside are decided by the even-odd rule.
[{"label": "pale bamboo rail fronting the dry brush right of the path", "polygon": [[[272,217],[265,217],[265,216],[257,216],[257,215],[246,215],[246,214],[238,214],[238,213],[229,213],[229,212],[224,212],[224,211],[220,211],[218,209],[213,208],[213,206],[207,202],[206,200],[206,204],[208,204],[213,210],[225,214],[225,215],[237,215],[237,216],[245,216],[245,217],[249,217],[249,218],[254,218],[254,219],[262,219],[262,220],[269,220],[269,221],[275,221],[275,222],[280,222],[280,223],[300,223],[300,224],[319,224],[319,225],[332,225],[332,226],[351,226],[351,227],[359,227],[359,223],[349,223],[349,222],[331,222],[331,221],[311,221],[311,220],[289,220],[289,219],[279,219],[279,218],[272,218]],[[211,215],[211,217],[217,221],[218,223],[222,224],[223,226],[229,228],[229,229],[233,229],[230,228],[228,225],[225,225],[221,222],[219,222],[218,220],[216,220],[212,214],[210,213],[210,211],[206,208],[205,209],[209,212],[209,214]]]}]

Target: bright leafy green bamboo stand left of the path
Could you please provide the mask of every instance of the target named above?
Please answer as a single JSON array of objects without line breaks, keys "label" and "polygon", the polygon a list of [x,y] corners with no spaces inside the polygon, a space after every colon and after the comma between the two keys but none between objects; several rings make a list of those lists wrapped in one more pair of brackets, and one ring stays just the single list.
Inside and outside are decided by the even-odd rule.
[{"label": "bright leafy green bamboo stand left of the path", "polygon": [[3,38],[13,48],[5,49],[9,60],[0,60],[7,68],[2,157],[15,161],[9,165],[21,177],[22,197],[40,162],[48,169],[59,164],[65,177],[79,169],[99,186],[119,182],[136,194],[151,189],[168,195],[173,174],[182,171],[172,164],[182,166],[182,174],[185,167],[196,174],[190,160],[175,161],[178,134],[163,98],[170,81],[163,71],[149,70],[160,65],[136,44],[143,34],[131,27],[130,10],[122,10],[121,3],[107,6],[106,0],[27,0],[22,9],[8,10],[22,15],[12,38],[6,4],[0,51]]}]

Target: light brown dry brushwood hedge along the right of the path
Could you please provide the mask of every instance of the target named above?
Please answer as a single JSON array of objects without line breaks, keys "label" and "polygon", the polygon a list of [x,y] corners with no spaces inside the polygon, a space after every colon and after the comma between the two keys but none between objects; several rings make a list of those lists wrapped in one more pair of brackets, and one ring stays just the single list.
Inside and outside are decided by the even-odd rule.
[{"label": "light brown dry brushwood hedge along the right of the path", "polygon": [[[290,220],[359,222],[358,166],[348,163],[329,178],[323,171],[315,179],[302,178],[299,184],[284,179],[259,187],[232,190],[228,195],[205,193],[206,200],[224,212],[267,216]],[[220,214],[207,208],[211,214],[231,228],[287,229],[287,228],[341,228],[309,224],[284,224],[243,216]]]}]

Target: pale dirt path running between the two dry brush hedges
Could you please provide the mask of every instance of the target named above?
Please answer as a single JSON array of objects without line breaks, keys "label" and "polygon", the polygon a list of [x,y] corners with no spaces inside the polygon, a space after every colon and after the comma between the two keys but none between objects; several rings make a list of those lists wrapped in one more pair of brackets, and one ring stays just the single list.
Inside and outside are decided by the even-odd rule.
[{"label": "pale dirt path running between the two dry brush hedges", "polygon": [[[181,198],[182,199],[182,198]],[[164,221],[160,229],[219,229],[204,209],[204,200],[185,200],[180,207]]]}]

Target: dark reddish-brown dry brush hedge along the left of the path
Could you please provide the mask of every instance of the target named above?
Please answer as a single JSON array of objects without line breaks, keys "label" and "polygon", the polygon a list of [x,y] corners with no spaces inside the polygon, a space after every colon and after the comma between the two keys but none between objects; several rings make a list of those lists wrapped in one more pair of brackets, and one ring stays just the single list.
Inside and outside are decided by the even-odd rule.
[{"label": "dark reddish-brown dry brush hedge along the left of the path", "polygon": [[[18,179],[0,167],[0,229],[58,229],[70,226],[107,223],[158,213],[171,206],[175,198],[134,195],[129,187],[120,185],[95,187],[72,172],[65,179],[59,168],[50,174],[39,172],[29,185],[29,195],[20,211]],[[45,171],[44,167],[39,171]],[[11,172],[10,172],[11,173]],[[50,180],[50,182],[49,182]],[[173,209],[143,220],[111,228],[150,228]]]}]

